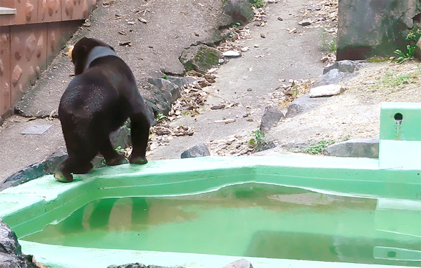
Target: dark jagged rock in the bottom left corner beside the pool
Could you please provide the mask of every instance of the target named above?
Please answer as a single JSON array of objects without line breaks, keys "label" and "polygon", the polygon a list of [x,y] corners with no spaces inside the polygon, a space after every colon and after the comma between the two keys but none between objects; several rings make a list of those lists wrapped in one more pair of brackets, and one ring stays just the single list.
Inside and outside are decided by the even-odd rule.
[{"label": "dark jagged rock in the bottom left corner beside the pool", "polygon": [[31,258],[22,254],[15,232],[0,219],[0,267],[36,268]]}]

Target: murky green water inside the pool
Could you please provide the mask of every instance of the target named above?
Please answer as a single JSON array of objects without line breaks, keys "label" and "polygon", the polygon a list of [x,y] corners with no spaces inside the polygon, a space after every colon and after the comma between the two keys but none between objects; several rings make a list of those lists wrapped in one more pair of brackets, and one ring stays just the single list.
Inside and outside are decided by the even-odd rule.
[{"label": "murky green water inside the pool", "polygon": [[421,210],[246,183],[182,197],[98,199],[22,238],[139,251],[421,266]]}]

